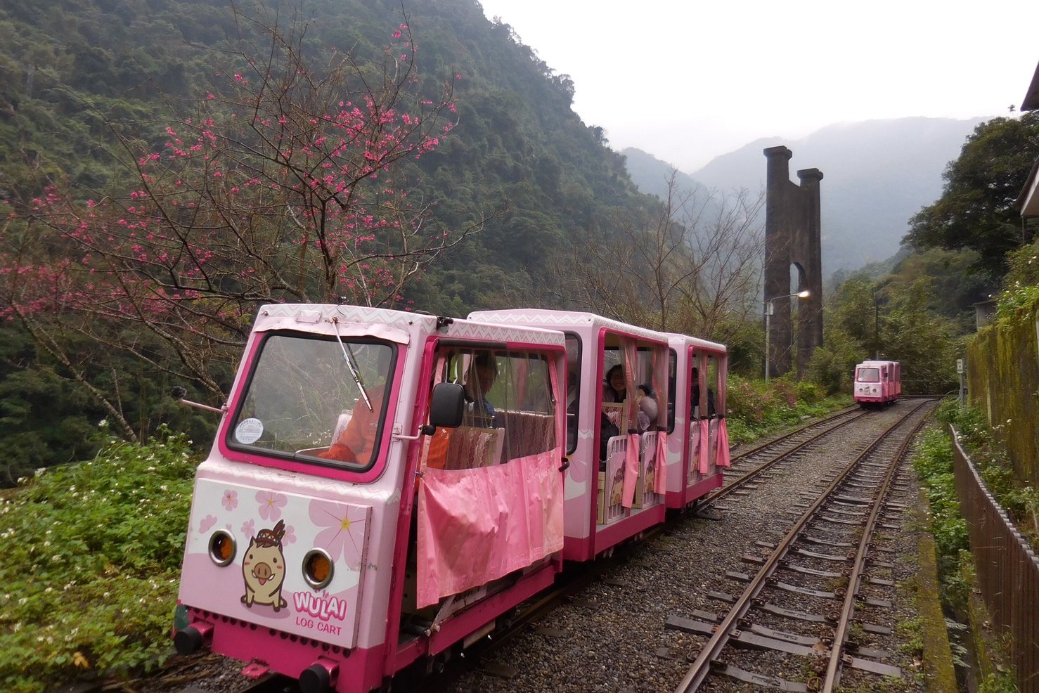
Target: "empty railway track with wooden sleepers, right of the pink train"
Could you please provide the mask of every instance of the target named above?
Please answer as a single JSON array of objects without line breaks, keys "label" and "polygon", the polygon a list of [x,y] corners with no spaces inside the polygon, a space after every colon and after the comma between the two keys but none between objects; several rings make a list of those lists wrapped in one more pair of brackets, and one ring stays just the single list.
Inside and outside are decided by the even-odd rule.
[{"label": "empty railway track with wooden sleepers, right of the pink train", "polygon": [[[874,538],[894,527],[894,521],[885,518],[898,517],[905,508],[888,496],[929,410],[928,401],[917,404],[837,472],[814,500],[801,503],[803,512],[778,544],[758,542],[770,553],[744,557],[758,565],[753,576],[727,574],[747,584],[739,596],[715,594],[730,603],[727,613],[668,619],[669,628],[709,637],[676,693],[701,690],[709,677],[719,676],[784,691],[830,693],[849,668],[877,676],[904,675],[901,667],[885,661],[891,652],[858,646],[849,636],[853,627],[879,636],[893,631],[891,624],[869,622],[856,614],[890,606],[889,598],[869,595],[863,585],[895,587],[893,581],[871,575],[893,567]],[[748,650],[753,655],[744,655]],[[792,667],[791,658],[802,663]],[[774,673],[791,670],[800,672],[802,681]]]}]

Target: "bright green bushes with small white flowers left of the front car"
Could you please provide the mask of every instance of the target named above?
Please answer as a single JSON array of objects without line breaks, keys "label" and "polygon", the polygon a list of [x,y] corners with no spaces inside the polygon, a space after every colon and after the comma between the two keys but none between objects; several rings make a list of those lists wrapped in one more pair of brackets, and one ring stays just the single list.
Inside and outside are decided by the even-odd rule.
[{"label": "bright green bushes with small white flowers left of the front car", "polygon": [[194,464],[190,441],[108,441],[0,496],[0,682],[44,691],[170,651]]}]

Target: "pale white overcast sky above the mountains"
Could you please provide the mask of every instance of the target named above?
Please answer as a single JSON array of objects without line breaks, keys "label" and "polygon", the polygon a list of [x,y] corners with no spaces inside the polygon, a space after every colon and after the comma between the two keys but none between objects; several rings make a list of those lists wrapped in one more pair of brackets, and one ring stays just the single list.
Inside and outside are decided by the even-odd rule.
[{"label": "pale white overcast sky above the mountains", "polygon": [[1007,115],[1039,63],[1039,0],[480,2],[613,149],[686,172],[832,123]]}]

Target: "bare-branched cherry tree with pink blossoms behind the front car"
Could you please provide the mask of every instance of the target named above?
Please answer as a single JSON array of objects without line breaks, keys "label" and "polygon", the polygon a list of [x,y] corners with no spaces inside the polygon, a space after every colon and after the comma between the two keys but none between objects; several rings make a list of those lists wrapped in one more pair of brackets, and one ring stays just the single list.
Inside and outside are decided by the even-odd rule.
[{"label": "bare-branched cherry tree with pink blossoms behind the front car", "polygon": [[316,57],[307,23],[233,11],[238,36],[216,51],[210,88],[169,97],[179,115],[154,139],[97,114],[130,185],[87,194],[48,174],[35,198],[4,201],[0,317],[92,388],[128,437],[118,389],[90,384],[69,334],[219,398],[258,305],[400,305],[480,228],[449,233],[420,192],[416,160],[456,125],[456,76],[429,96],[406,21],[373,61]]}]

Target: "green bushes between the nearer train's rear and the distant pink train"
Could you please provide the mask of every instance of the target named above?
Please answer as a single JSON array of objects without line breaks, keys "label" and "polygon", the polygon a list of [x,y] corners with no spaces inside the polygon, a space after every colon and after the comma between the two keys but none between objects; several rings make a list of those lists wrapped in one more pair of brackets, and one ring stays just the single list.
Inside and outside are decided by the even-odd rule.
[{"label": "green bushes between the nearer train's rear and the distant pink train", "polygon": [[792,375],[769,382],[729,375],[725,394],[728,438],[731,443],[750,443],[849,404],[847,396],[824,399],[818,385],[797,382]]}]

